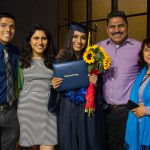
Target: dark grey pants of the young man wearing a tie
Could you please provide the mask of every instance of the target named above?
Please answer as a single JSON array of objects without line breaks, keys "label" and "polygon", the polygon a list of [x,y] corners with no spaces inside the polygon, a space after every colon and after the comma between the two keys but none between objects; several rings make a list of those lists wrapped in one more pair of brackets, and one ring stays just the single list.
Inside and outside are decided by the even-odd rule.
[{"label": "dark grey pants of the young man wearing a tie", "polygon": [[0,150],[15,150],[19,138],[16,107],[0,112]]}]

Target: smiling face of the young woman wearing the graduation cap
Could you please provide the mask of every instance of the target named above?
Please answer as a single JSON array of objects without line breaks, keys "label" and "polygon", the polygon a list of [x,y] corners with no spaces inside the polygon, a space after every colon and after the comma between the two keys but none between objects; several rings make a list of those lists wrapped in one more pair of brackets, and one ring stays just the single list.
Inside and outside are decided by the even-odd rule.
[{"label": "smiling face of the young woman wearing the graduation cap", "polygon": [[75,52],[80,52],[86,45],[86,33],[74,31],[72,47]]}]

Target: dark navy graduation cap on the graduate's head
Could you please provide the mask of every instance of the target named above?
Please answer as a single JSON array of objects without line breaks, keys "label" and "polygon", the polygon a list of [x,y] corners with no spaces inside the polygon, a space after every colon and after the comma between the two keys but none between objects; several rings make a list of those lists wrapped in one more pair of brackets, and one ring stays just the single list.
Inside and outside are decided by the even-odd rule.
[{"label": "dark navy graduation cap on the graduate's head", "polygon": [[63,18],[65,21],[68,21],[69,24],[69,30],[73,30],[73,31],[80,31],[80,32],[84,32],[84,33],[88,33],[90,31],[94,31],[94,32],[97,32],[96,30],[92,29],[91,27],[89,26],[86,26],[86,25],[83,25],[82,23],[77,23],[75,21],[71,21],[71,20],[68,20],[66,18]]}]

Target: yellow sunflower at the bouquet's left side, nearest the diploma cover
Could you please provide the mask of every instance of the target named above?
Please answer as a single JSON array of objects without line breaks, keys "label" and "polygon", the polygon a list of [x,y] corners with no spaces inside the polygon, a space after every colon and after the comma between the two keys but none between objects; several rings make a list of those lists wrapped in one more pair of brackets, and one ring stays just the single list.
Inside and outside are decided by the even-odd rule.
[{"label": "yellow sunflower at the bouquet's left side, nearest the diploma cover", "polygon": [[88,64],[92,64],[95,61],[94,56],[95,54],[92,51],[85,51],[83,54],[83,60]]}]

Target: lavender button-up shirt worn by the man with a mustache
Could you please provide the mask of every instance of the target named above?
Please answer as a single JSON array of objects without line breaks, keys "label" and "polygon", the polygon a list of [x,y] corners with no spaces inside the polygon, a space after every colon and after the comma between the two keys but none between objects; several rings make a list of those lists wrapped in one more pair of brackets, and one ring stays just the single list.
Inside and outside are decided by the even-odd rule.
[{"label": "lavender button-up shirt worn by the man with a mustache", "polygon": [[103,74],[105,101],[111,105],[126,104],[132,84],[138,74],[138,54],[141,42],[128,38],[122,45],[110,39],[98,43],[111,57],[111,68]]}]

